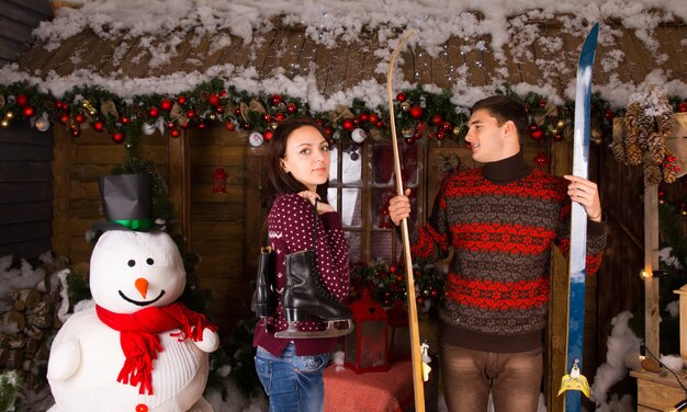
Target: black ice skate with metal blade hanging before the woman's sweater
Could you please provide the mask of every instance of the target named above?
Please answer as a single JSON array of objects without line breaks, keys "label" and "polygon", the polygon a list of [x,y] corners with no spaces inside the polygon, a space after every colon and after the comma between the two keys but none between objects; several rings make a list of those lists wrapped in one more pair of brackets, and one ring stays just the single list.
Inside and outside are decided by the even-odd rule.
[{"label": "black ice skate with metal blade hanging before the woman's sweater", "polygon": [[306,320],[307,316],[323,321],[350,320],[350,308],[325,289],[316,267],[312,250],[286,255],[286,287],[281,299],[286,321]]}]

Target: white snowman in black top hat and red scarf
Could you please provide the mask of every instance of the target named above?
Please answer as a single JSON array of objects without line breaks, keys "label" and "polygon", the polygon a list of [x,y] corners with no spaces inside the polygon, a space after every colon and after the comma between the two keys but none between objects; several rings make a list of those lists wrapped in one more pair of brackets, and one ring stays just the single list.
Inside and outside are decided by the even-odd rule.
[{"label": "white snowman in black top hat and red scarf", "polygon": [[91,255],[95,306],[71,316],[50,347],[50,412],[212,412],[203,398],[216,327],[177,302],[185,271],[149,218],[151,176],[99,179],[109,222]]}]

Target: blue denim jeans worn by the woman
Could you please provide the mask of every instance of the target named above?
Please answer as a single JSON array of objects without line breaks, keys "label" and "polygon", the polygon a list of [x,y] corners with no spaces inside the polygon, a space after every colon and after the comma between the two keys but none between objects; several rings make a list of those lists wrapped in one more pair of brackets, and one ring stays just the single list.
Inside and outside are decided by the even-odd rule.
[{"label": "blue denim jeans worn by the woman", "polygon": [[258,346],[256,371],[269,397],[270,412],[322,412],[325,405],[323,369],[329,354],[297,356],[290,343],[277,357]]}]

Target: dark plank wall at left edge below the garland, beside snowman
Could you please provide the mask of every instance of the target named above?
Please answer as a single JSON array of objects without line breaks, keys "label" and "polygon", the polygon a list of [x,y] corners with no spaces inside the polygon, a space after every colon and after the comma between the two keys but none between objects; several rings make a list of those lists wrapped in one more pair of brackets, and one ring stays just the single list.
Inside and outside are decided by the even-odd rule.
[{"label": "dark plank wall at left edge below the garland, beside snowman", "polygon": [[53,136],[27,124],[0,129],[0,256],[52,249]]}]

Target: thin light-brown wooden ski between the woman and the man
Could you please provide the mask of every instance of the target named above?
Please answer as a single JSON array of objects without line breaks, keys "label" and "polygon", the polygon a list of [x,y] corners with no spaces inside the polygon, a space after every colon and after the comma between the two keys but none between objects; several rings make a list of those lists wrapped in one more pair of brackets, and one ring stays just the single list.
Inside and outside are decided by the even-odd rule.
[{"label": "thin light-brown wooden ski between the woman and the man", "polygon": [[[392,146],[394,149],[394,171],[396,174],[396,191],[398,195],[404,195],[403,179],[401,174],[401,156],[398,152],[398,139],[396,137],[396,122],[394,115],[394,94],[392,88],[392,73],[394,64],[398,53],[408,39],[414,35],[408,33],[394,50],[391,61],[388,62],[388,71],[386,72],[386,92],[388,94],[388,118],[391,121]],[[401,221],[401,231],[403,239],[403,255],[405,258],[406,270],[406,290],[408,296],[408,322],[410,329],[410,359],[413,363],[413,389],[415,393],[415,411],[425,412],[425,386],[423,381],[423,355],[420,350],[419,327],[417,320],[417,305],[415,301],[415,279],[413,277],[413,258],[410,256],[410,239],[408,238],[408,221]]]}]

